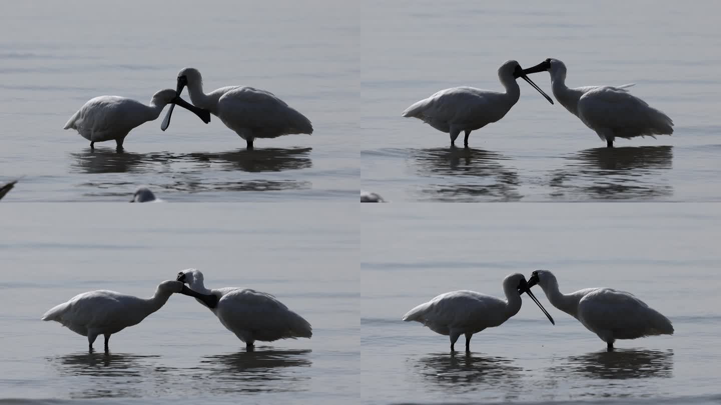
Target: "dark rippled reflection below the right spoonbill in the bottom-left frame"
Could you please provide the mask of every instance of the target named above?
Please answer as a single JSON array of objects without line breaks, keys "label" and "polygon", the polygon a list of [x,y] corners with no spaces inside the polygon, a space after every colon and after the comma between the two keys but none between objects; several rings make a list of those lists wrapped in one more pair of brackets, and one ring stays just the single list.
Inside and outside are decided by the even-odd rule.
[{"label": "dark rippled reflection below the right spoonbill in the bottom-left frame", "polygon": [[208,372],[203,386],[216,393],[304,391],[310,376],[298,368],[311,366],[310,355],[311,350],[258,347],[206,356],[200,360],[200,368]]}]

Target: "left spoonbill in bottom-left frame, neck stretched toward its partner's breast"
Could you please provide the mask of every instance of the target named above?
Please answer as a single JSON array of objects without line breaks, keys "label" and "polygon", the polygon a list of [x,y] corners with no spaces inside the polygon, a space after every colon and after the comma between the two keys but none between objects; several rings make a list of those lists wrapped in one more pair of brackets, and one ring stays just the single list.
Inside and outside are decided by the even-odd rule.
[{"label": "left spoonbill in bottom-left frame, neck stretched toward its partner's breast", "polygon": [[88,337],[89,350],[98,335],[105,336],[105,351],[110,335],[128,326],[140,324],[146,316],[158,311],[172,293],[198,298],[207,306],[218,302],[214,295],[203,295],[187,288],[182,282],[164,281],[151,298],[138,298],[115,291],[97,290],[74,296],[70,301],[53,307],[43,321],[57,321],[76,334]]}]

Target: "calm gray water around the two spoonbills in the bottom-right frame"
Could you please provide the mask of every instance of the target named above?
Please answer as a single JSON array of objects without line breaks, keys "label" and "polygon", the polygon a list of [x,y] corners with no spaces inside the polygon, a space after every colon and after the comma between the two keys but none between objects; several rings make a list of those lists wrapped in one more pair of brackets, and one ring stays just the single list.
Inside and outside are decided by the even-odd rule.
[{"label": "calm gray water around the two spoonbills in the bottom-right frame", "polygon": [[[718,404],[721,253],[717,205],[372,205],[361,231],[361,398],[366,404]],[[681,209],[683,208],[683,209]],[[668,316],[673,336],[620,340],[524,295],[505,324],[451,354],[404,313],[438,294],[503,297],[513,272],[554,271],[562,292],[627,290]],[[461,337],[459,342],[464,338]],[[461,345],[462,347],[462,345]]]}]

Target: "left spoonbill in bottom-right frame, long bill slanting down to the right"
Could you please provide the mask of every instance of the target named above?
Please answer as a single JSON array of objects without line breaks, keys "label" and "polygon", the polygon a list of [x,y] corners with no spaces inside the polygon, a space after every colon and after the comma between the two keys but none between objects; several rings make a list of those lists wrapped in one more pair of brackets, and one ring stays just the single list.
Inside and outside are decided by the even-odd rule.
[{"label": "left spoonbill in bottom-right frame, long bill slanting down to the right", "polygon": [[521,294],[528,293],[541,311],[555,324],[553,318],[541,306],[531,290],[526,287],[526,277],[521,273],[513,273],[503,279],[505,300],[477,293],[460,290],[438,295],[427,303],[408,311],[403,320],[417,321],[435,333],[451,337],[451,351],[461,334],[466,335],[466,351],[470,350],[471,337],[486,328],[500,326],[511,316],[521,310]]}]

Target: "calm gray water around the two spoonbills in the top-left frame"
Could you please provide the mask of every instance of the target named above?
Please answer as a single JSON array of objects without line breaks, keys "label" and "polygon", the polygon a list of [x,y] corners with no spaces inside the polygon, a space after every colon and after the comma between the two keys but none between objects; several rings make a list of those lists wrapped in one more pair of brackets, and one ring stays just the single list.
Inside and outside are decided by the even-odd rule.
[{"label": "calm gray water around the two spoonbills in the top-left frame", "polygon": [[[0,13],[0,182],[7,200],[346,200],[358,194],[358,25],[332,1],[13,2]],[[198,68],[206,92],[255,86],[309,117],[314,135],[245,142],[179,109],[115,143],[63,130],[87,100],[149,102]],[[183,93],[189,99],[187,91]],[[181,111],[182,110],[182,111]]]}]

